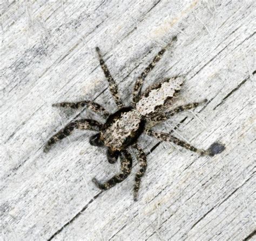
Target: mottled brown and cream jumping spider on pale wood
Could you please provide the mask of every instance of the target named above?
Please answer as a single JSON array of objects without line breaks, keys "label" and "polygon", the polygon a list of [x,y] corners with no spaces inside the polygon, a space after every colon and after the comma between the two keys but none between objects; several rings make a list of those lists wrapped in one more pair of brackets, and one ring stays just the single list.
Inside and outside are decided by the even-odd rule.
[{"label": "mottled brown and cream jumping spider on pale wood", "polygon": [[[176,41],[177,37],[173,37],[172,42]],[[171,43],[172,43],[171,42]],[[102,190],[110,189],[119,182],[122,182],[129,176],[132,169],[132,157],[127,147],[132,146],[135,150],[136,157],[139,163],[139,171],[135,176],[135,184],[133,188],[134,201],[137,201],[140,181],[145,174],[147,167],[146,154],[137,144],[137,139],[141,134],[147,134],[150,137],[157,138],[160,141],[170,141],[176,145],[185,147],[186,149],[197,152],[200,155],[213,156],[222,152],[225,146],[220,143],[213,143],[207,150],[196,148],[183,140],[172,136],[170,133],[157,133],[150,130],[150,123],[159,123],[165,121],[169,117],[178,114],[181,111],[196,108],[199,104],[205,103],[195,102],[185,105],[180,105],[172,110],[167,110],[173,104],[173,98],[179,93],[184,82],[184,77],[176,76],[161,80],[152,84],[142,93],[143,82],[154,68],[156,63],[161,59],[166,48],[161,49],[153,58],[149,66],[147,66],[142,74],[136,80],[133,89],[132,103],[125,107],[120,99],[117,84],[111,76],[109,69],[106,66],[100,53],[99,47],[96,47],[100,66],[109,82],[109,89],[116,103],[118,110],[113,114],[109,114],[101,105],[92,101],[80,102],[63,102],[53,104],[53,107],[64,108],[88,108],[99,115],[102,115],[106,121],[104,124],[93,119],[78,119],[66,125],[62,130],[52,136],[45,145],[44,151],[48,151],[50,147],[57,141],[69,136],[73,130],[90,130],[97,133],[90,137],[92,146],[106,147],[106,157],[110,164],[113,164],[120,157],[121,170],[120,173],[114,175],[106,182],[99,182],[96,178],[92,181]]]}]

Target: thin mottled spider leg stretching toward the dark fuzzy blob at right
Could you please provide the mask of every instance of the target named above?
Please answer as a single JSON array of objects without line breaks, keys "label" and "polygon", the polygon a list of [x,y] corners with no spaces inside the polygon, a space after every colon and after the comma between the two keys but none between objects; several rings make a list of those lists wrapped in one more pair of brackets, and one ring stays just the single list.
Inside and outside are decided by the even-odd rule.
[{"label": "thin mottled spider leg stretching toward the dark fuzzy blob at right", "polygon": [[180,139],[172,136],[169,133],[163,133],[163,132],[157,133],[157,132],[152,131],[152,130],[145,130],[144,133],[147,134],[150,137],[157,138],[160,141],[170,141],[170,142],[173,142],[174,144],[176,144],[178,146],[182,146],[182,147],[184,147],[187,150],[190,150],[192,152],[197,152],[197,153],[199,153],[201,155],[210,155],[208,150],[198,149],[198,148],[196,148],[196,147],[186,143],[185,141],[180,140]]}]

